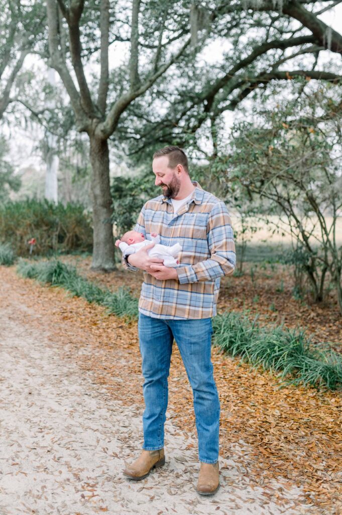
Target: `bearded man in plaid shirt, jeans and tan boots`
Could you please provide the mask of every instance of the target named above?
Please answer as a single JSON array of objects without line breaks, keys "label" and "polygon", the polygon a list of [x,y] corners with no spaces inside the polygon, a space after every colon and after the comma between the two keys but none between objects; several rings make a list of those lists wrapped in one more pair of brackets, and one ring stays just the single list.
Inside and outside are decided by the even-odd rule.
[{"label": "bearded man in plaid shirt, jeans and tan boots", "polygon": [[211,317],[216,314],[220,278],[235,269],[233,232],[225,204],[191,181],[181,148],[155,152],[152,168],[163,194],[146,202],[135,230],[145,237],[160,234],[163,245],[179,242],[182,252],[176,268],[148,255],[154,243],[122,261],[127,269],[145,271],[138,320],[144,443],[124,475],[142,479],[165,464],[164,423],[175,339],[193,391],[201,462],[196,490],[208,495],[219,488],[220,402],[211,363]]}]

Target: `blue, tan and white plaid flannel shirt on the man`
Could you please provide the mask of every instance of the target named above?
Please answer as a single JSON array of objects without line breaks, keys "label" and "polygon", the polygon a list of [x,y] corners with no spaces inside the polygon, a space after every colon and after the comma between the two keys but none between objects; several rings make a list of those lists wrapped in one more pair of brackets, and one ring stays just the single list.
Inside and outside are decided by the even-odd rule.
[{"label": "blue, tan and white plaid flannel shirt on the man", "polygon": [[[224,202],[199,183],[190,200],[174,216],[169,198],[159,195],[143,206],[135,231],[160,235],[162,245],[180,243],[178,281],[158,280],[144,272],[139,311],[167,319],[198,319],[216,315],[222,276],[235,269],[236,254],[231,220]],[[138,270],[122,258],[128,270]]]}]

